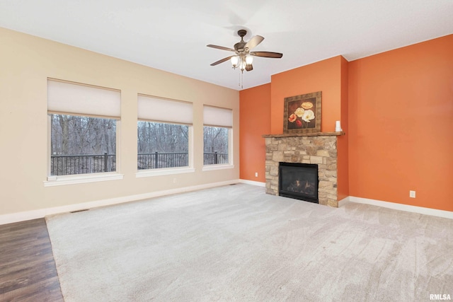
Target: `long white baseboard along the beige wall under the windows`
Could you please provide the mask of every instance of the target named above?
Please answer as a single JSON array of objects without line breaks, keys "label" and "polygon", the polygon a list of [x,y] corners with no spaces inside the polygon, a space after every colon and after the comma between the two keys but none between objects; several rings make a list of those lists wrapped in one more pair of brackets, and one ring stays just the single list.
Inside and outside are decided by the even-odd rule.
[{"label": "long white baseboard along the beige wall under the windows", "polygon": [[30,219],[39,219],[39,218],[43,218],[44,216],[47,216],[47,215],[66,213],[69,211],[80,211],[83,209],[91,209],[91,208],[95,208],[95,207],[105,207],[105,206],[110,206],[113,204],[122,204],[125,202],[134,202],[137,200],[149,199],[149,198],[153,198],[153,197],[160,197],[160,196],[169,195],[169,194],[177,194],[177,193],[190,192],[190,191],[196,191],[196,190],[202,190],[202,189],[209,189],[210,187],[220,187],[222,185],[231,185],[231,184],[238,183],[238,182],[241,182],[241,181],[240,180],[227,180],[224,182],[212,182],[212,183],[207,183],[204,185],[194,185],[191,187],[178,187],[176,189],[171,189],[171,190],[149,192],[149,193],[144,193],[144,194],[129,195],[129,196],[125,196],[125,197],[116,197],[116,198],[110,198],[110,199],[102,199],[102,200],[97,200],[97,201],[93,201],[93,202],[82,202],[80,204],[69,204],[67,206],[62,206],[62,207],[52,207],[52,208],[38,209],[38,210],[33,210],[33,211],[21,211],[18,213],[4,214],[4,215],[0,215],[0,225],[6,224],[6,223],[18,222],[18,221],[26,221],[26,220],[30,220]]}]

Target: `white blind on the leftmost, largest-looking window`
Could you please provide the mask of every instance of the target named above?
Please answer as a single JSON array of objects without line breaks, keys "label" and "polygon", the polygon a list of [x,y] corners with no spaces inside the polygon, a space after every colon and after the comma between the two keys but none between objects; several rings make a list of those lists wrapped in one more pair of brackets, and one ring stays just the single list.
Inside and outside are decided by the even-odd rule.
[{"label": "white blind on the leftmost, largest-looking window", "polygon": [[121,92],[48,79],[47,109],[59,113],[120,117]]}]

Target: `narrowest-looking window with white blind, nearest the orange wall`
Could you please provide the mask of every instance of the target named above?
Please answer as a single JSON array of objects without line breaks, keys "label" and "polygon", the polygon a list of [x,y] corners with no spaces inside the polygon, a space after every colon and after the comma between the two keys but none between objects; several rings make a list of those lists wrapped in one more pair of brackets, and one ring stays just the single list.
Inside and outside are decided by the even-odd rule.
[{"label": "narrowest-looking window with white blind, nearest the orange wall", "polygon": [[204,165],[231,163],[232,117],[233,114],[231,109],[204,106]]}]

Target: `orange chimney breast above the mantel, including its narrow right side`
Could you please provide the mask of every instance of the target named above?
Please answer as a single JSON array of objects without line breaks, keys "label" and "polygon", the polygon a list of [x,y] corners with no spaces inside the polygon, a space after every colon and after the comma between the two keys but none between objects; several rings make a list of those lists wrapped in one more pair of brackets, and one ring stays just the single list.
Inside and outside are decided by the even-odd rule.
[{"label": "orange chimney breast above the mantel, including its narrow right side", "polygon": [[[321,132],[334,132],[340,121],[348,131],[348,61],[342,56],[298,67],[271,77],[270,131],[283,132],[285,98],[322,91]],[[337,199],[349,196],[348,134],[338,137]]]}]

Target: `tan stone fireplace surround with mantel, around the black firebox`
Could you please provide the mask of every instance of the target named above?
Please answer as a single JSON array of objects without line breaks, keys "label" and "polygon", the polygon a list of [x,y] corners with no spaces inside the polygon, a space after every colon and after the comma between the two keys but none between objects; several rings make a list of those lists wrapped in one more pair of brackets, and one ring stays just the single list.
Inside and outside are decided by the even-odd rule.
[{"label": "tan stone fireplace surround with mantel, around the black firebox", "polygon": [[319,177],[319,204],[338,207],[336,135],[341,134],[263,136],[266,140],[266,193],[278,195],[278,167],[280,162],[316,163]]}]

